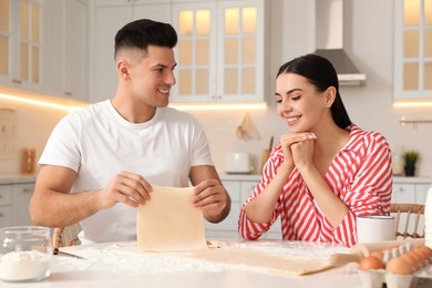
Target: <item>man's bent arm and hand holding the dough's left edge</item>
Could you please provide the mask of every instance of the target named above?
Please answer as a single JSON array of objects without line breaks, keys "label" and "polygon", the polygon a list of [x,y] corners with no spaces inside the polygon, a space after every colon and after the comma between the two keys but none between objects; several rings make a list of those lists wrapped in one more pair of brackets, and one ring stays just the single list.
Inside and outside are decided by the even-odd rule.
[{"label": "man's bent arm and hand holding the dough's left edge", "polygon": [[41,167],[29,212],[35,225],[64,227],[116,203],[132,207],[150,199],[151,185],[140,175],[121,172],[101,189],[70,194],[76,172],[68,167]]}]

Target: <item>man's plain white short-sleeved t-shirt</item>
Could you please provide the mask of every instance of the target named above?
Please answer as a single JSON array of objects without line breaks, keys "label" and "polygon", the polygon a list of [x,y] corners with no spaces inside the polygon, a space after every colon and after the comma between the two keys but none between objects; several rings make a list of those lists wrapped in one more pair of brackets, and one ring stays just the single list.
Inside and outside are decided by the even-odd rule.
[{"label": "man's plain white short-sleeved t-shirt", "polygon": [[[203,127],[191,115],[171,107],[134,124],[111,101],[74,111],[53,130],[39,164],[78,173],[71,193],[105,187],[127,171],[161,186],[188,186],[192,166],[214,165]],[[136,208],[116,204],[81,222],[84,243],[136,239]]]}]

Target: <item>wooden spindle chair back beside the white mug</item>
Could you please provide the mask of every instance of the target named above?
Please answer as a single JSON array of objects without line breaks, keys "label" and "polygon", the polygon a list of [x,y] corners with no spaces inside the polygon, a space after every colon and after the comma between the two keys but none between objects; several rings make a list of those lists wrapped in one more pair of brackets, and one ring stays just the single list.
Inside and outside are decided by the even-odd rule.
[{"label": "wooden spindle chair back beside the white mug", "polygon": [[[424,219],[421,220],[421,216],[424,217],[423,204],[390,204],[390,212],[395,214],[397,237],[401,236],[403,239],[407,237],[424,238],[424,225],[421,225],[423,226],[422,230],[419,229],[419,224],[424,223]],[[410,222],[411,216],[415,217],[413,222]],[[403,218],[405,223],[400,225]],[[412,225],[413,228],[411,228]]]}]

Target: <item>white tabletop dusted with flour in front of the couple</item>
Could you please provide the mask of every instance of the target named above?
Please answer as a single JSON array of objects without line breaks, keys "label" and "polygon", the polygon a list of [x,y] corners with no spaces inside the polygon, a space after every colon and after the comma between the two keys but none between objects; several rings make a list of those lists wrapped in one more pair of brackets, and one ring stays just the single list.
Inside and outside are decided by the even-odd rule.
[{"label": "white tabletop dusted with flour in front of the couple", "polygon": [[[286,248],[289,241],[278,241],[279,248]],[[246,248],[251,249],[265,241],[244,243]],[[275,243],[271,243],[272,245]],[[199,288],[224,288],[224,287],[361,287],[359,275],[349,271],[347,266],[332,268],[326,271],[305,275],[289,276],[264,272],[258,270],[248,270],[236,267],[224,267],[224,265],[212,266],[213,264],[200,265],[199,263],[189,263],[188,260],[169,258],[157,255],[157,259],[151,259],[151,256],[140,254],[120,253],[113,249],[113,244],[97,244],[89,246],[74,246],[64,249],[68,253],[81,255],[86,259],[75,259],[64,256],[54,256],[51,276],[40,282],[19,282],[10,284],[0,281],[1,288],[56,288],[56,287],[199,287]],[[258,247],[257,246],[257,247]],[[275,247],[275,246],[272,246]],[[302,248],[304,251],[305,247]],[[320,250],[321,249],[321,250]],[[335,248],[332,248],[335,249]],[[341,250],[348,250],[341,247]],[[301,254],[301,249],[286,249],[288,253]],[[338,250],[338,247],[336,247]],[[328,249],[319,247],[315,249],[316,255],[329,254]],[[155,255],[155,254],[153,254]],[[143,257],[147,259],[141,263]]]}]

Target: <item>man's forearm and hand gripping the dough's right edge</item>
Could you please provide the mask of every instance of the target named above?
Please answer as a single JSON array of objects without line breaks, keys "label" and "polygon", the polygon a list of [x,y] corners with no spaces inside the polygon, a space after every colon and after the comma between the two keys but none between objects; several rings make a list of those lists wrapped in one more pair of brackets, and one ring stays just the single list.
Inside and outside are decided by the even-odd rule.
[{"label": "man's forearm and hand gripping the dough's right edge", "polygon": [[195,186],[193,203],[203,209],[210,223],[219,223],[228,216],[232,200],[220,183],[214,166],[203,165],[191,168],[191,182]]}]

